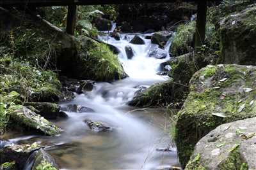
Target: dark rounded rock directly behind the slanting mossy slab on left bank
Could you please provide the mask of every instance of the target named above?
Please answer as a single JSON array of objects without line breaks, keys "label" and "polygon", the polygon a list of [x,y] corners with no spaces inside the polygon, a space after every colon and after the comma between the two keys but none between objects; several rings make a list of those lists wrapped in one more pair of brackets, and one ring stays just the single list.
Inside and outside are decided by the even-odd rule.
[{"label": "dark rounded rock directly behind the slanting mossy slab on left bank", "polygon": [[60,106],[55,103],[28,102],[28,103],[24,103],[24,106],[32,106],[37,110],[36,113],[38,113],[39,115],[41,115],[46,119],[56,119],[60,112]]}]

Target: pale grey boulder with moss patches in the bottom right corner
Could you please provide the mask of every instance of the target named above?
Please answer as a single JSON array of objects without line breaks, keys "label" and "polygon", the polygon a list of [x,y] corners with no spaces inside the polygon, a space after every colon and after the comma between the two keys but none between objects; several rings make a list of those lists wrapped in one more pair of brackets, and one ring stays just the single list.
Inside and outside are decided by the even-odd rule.
[{"label": "pale grey boulder with moss patches in the bottom right corner", "polygon": [[185,170],[256,169],[256,117],[218,126],[200,139]]}]

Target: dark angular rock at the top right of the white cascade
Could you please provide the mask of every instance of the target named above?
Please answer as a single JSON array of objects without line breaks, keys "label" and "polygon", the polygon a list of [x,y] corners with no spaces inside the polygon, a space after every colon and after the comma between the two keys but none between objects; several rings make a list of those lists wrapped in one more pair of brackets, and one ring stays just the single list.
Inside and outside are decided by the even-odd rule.
[{"label": "dark angular rock at the top right of the white cascade", "polygon": [[151,42],[163,48],[166,45],[168,39],[170,39],[171,37],[172,37],[172,32],[168,32],[168,31],[155,32],[152,35]]}]

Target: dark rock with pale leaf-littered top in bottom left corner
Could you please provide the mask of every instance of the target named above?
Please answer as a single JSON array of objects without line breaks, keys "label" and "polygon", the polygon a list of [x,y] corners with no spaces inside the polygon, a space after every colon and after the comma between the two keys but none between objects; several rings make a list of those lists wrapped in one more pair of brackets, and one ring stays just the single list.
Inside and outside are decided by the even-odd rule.
[{"label": "dark rock with pale leaf-littered top in bottom left corner", "polygon": [[12,162],[15,161],[18,169],[22,169],[26,164],[26,161],[29,155],[35,151],[40,149],[40,145],[38,143],[33,143],[31,145],[10,145],[0,149],[1,159],[0,163],[4,162]]}]

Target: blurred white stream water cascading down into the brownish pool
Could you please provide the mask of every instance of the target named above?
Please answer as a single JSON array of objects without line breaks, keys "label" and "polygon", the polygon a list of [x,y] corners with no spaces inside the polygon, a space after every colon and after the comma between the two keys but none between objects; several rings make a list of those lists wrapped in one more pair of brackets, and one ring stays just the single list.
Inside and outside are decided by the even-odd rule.
[{"label": "blurred white stream water cascading down into the brownish pool", "polygon": [[[164,81],[167,77],[158,76],[159,64],[169,59],[148,57],[152,48],[150,39],[139,34],[145,45],[129,43],[134,34],[121,34],[117,41],[108,35],[99,39],[116,46],[118,57],[129,78],[113,83],[97,83],[92,92],[76,94],[67,104],[81,104],[92,108],[93,113],[67,112],[66,120],[54,122],[63,129],[56,137],[22,136],[11,139],[13,143],[40,141],[47,145],[50,153],[61,169],[163,169],[179,166],[177,152],[170,139],[170,122],[163,109],[136,109],[127,106],[141,87]],[[171,39],[165,46],[170,48]],[[134,57],[127,59],[125,46],[131,46]],[[84,123],[85,119],[104,122],[113,127],[111,132],[92,132]],[[157,151],[157,148],[170,147],[172,152]],[[31,162],[28,162],[28,165]],[[29,167],[29,166],[28,166]],[[29,168],[28,168],[29,169]]]}]

